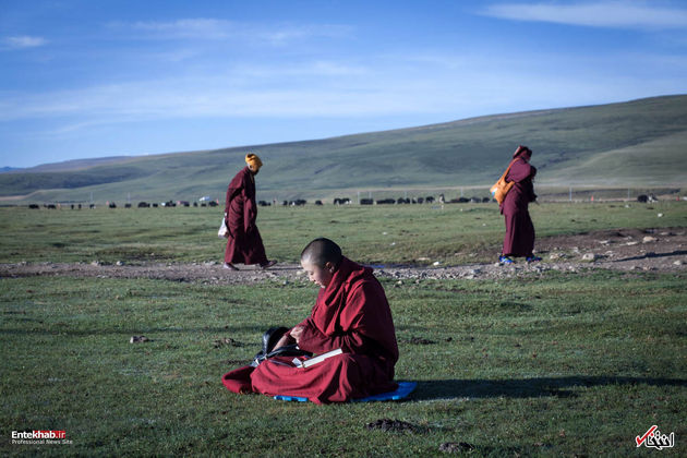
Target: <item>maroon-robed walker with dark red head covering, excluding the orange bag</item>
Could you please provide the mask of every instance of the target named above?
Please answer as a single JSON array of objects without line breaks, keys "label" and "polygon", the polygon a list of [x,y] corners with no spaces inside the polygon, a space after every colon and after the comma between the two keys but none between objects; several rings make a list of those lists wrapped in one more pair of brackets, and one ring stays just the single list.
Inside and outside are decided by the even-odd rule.
[{"label": "maroon-robed walker with dark red head covering, excluding the orange bag", "polygon": [[537,174],[537,169],[530,165],[532,150],[527,146],[518,146],[513,155],[510,170],[506,176],[507,182],[515,182],[506,198],[501,203],[501,214],[506,219],[506,236],[504,237],[504,249],[498,261],[502,264],[513,264],[515,256],[525,256],[528,263],[541,261],[534,256],[534,225],[528,206],[530,202],[537,201],[532,180]]}]

